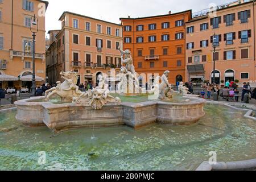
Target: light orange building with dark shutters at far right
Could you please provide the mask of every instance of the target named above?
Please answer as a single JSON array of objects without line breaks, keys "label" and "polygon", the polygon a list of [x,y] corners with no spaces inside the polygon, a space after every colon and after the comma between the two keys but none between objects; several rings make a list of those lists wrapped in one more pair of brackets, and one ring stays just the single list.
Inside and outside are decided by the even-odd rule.
[{"label": "light orange building with dark shutters at far right", "polygon": [[240,85],[255,86],[254,2],[219,6],[216,12],[187,22],[186,29],[185,81],[213,82],[215,59],[218,84],[238,80]]}]

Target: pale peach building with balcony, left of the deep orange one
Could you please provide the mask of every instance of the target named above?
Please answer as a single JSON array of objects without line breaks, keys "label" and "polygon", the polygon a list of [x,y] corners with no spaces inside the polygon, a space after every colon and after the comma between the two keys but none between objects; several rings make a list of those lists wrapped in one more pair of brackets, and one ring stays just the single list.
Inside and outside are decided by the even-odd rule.
[{"label": "pale peach building with balcony, left of the deep orange one", "polygon": [[62,28],[55,36],[57,53],[52,58],[57,77],[48,79],[62,81],[61,71],[75,71],[79,76],[77,84],[90,82],[95,86],[101,73],[114,81],[121,68],[118,47],[122,45],[122,26],[67,11],[59,20]]}]

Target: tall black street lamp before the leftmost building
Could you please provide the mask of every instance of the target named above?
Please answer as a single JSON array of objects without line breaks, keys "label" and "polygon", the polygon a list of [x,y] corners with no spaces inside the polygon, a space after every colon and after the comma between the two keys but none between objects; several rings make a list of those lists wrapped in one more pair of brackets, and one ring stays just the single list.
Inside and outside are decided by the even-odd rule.
[{"label": "tall black street lamp before the leftmost building", "polygon": [[[36,29],[33,28],[32,26],[36,26]],[[32,73],[32,86],[31,86],[31,95],[35,96],[36,92],[36,79],[35,79],[35,34],[38,32],[38,18],[36,16],[31,16],[31,24],[30,24],[30,31],[33,33],[33,73]]]}]

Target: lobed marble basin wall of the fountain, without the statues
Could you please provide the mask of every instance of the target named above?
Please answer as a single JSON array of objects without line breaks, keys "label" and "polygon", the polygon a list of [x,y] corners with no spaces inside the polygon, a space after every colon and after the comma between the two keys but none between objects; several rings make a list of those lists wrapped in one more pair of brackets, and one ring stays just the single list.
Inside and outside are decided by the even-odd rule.
[{"label": "lobed marble basin wall of the fountain, without the statues", "polygon": [[16,101],[16,119],[28,127],[47,126],[53,132],[76,127],[112,127],[127,125],[134,129],[159,122],[169,125],[192,125],[204,117],[205,100],[183,97],[189,102],[146,101],[106,104],[94,110],[87,104],[53,104],[44,97]]}]

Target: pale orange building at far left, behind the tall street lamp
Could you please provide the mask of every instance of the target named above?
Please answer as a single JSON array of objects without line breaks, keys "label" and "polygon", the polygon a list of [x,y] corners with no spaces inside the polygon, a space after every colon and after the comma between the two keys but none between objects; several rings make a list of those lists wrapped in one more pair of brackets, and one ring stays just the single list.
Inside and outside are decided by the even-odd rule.
[{"label": "pale orange building at far left, behind the tall street lamp", "polygon": [[[0,1],[0,88],[32,85],[31,16],[38,18],[35,43],[36,85],[46,76],[45,16],[47,1]],[[36,28],[36,27],[33,27]],[[35,29],[33,29],[35,30]]]}]

